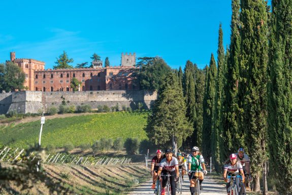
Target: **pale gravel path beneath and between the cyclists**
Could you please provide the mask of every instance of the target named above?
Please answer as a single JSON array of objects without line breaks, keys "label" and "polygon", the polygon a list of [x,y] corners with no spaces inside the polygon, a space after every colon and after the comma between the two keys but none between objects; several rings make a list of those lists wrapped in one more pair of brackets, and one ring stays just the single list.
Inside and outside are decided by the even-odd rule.
[{"label": "pale gravel path beneath and between the cyclists", "polygon": [[[127,194],[131,194],[131,195],[154,194],[154,190],[151,189],[151,184],[152,184],[152,179],[147,182],[141,183],[141,185],[139,185],[137,188],[135,188],[133,191]],[[212,175],[205,176],[202,186],[203,186],[203,190],[201,191],[201,194],[204,194],[204,195],[226,194],[225,185],[216,183],[215,180],[212,179]],[[182,194],[183,195],[190,194],[189,180],[186,175],[184,176]]]}]

